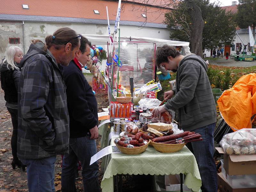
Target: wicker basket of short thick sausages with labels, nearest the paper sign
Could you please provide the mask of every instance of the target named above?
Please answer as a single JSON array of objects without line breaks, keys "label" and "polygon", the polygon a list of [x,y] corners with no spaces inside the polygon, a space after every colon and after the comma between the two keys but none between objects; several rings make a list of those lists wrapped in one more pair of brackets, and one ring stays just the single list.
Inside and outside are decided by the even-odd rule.
[{"label": "wicker basket of short thick sausages with labels, nearest the paper sign", "polygon": [[115,139],[114,143],[122,153],[135,155],[143,153],[148,148],[150,141],[147,134],[138,132],[136,135],[127,134],[120,140]]}]

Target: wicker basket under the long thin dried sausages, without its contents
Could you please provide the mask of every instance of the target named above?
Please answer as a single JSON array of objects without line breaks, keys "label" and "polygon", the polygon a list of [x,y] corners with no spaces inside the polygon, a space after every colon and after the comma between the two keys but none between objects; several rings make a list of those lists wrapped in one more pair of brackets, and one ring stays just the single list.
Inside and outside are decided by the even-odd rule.
[{"label": "wicker basket under the long thin dried sausages, without its contents", "polygon": [[161,153],[174,153],[182,149],[186,143],[165,144],[165,143],[156,143],[151,141],[151,144],[157,151]]}]

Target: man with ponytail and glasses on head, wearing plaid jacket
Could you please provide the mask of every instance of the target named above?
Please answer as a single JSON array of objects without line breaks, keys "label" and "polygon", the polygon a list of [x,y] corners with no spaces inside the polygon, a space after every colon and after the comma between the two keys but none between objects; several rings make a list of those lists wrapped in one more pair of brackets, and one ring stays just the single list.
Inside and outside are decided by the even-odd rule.
[{"label": "man with ponytail and glasses on head, wearing plaid jacket", "polygon": [[58,63],[68,66],[80,47],[79,37],[60,28],[45,38],[47,47],[33,40],[20,63],[17,145],[18,157],[27,165],[29,191],[55,191],[56,154],[68,153],[68,108]]}]

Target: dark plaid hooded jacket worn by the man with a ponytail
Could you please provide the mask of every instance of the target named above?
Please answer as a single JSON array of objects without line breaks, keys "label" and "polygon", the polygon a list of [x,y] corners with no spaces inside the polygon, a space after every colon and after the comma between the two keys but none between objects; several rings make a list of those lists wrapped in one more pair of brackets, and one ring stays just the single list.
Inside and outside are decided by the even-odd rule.
[{"label": "dark plaid hooded jacket worn by the man with a ponytail", "polygon": [[68,153],[65,83],[51,52],[31,44],[21,60],[18,90],[18,152],[21,159]]}]

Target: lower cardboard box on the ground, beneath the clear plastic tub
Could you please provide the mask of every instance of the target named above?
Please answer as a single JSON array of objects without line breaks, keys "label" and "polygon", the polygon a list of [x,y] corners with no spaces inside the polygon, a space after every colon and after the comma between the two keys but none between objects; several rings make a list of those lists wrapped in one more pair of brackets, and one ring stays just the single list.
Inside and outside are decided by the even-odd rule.
[{"label": "lower cardboard box on the ground, beneath the clear plastic tub", "polygon": [[222,173],[218,173],[218,187],[220,192],[255,192],[256,188],[236,188],[233,189],[227,180],[223,177]]}]

